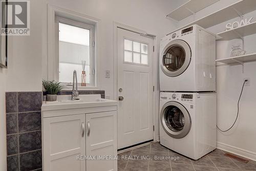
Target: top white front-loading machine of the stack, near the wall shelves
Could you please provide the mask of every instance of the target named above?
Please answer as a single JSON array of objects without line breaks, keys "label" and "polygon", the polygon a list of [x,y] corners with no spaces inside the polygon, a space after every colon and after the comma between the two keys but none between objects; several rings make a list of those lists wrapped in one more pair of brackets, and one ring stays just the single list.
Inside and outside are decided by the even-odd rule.
[{"label": "top white front-loading machine of the stack, near the wall shelves", "polygon": [[160,91],[216,90],[216,35],[193,25],[160,40]]}]

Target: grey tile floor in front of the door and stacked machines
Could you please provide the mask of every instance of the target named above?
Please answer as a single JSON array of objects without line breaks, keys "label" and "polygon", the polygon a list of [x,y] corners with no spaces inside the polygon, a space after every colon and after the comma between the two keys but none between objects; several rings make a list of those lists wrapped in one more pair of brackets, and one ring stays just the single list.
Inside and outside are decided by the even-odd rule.
[{"label": "grey tile floor in front of the door and stacked machines", "polygon": [[[244,171],[256,170],[256,162],[240,161],[224,156],[225,152],[220,149],[209,153],[199,160],[191,160],[165,148],[158,142],[142,147],[134,148],[118,154],[118,170],[125,171]],[[138,159],[134,160],[137,156]],[[146,156],[146,158],[144,157]],[[169,158],[155,158],[166,156]],[[125,158],[126,157],[126,158]],[[133,159],[131,159],[133,157]],[[173,157],[173,158],[172,158]],[[179,157],[179,160],[175,160]]]}]

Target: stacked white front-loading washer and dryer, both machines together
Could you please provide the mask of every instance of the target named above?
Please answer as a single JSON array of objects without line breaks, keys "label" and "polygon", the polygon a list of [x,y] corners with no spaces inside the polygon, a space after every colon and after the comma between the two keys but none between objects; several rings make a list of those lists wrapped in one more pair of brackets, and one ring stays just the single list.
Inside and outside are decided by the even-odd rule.
[{"label": "stacked white front-loading washer and dryer, both machines together", "polygon": [[216,35],[193,25],[160,40],[160,143],[191,159],[216,148]]}]

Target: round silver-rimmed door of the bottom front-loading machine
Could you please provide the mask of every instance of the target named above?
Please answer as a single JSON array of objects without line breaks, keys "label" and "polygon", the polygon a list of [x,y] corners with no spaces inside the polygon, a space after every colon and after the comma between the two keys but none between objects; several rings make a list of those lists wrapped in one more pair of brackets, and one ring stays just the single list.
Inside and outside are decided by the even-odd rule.
[{"label": "round silver-rimmed door of the bottom front-loading machine", "polygon": [[191,128],[189,113],[182,104],[175,101],[164,104],[160,121],[166,134],[177,139],[185,137]]}]

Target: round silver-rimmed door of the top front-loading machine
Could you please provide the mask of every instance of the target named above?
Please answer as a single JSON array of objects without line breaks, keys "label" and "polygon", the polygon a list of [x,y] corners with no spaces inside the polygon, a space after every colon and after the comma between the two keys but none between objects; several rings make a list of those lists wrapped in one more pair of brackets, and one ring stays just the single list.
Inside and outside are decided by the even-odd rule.
[{"label": "round silver-rimmed door of the top front-loading machine", "polygon": [[176,77],[189,66],[191,49],[185,41],[173,40],[166,45],[160,59],[163,73],[169,77]]}]

